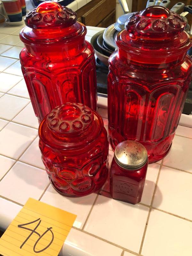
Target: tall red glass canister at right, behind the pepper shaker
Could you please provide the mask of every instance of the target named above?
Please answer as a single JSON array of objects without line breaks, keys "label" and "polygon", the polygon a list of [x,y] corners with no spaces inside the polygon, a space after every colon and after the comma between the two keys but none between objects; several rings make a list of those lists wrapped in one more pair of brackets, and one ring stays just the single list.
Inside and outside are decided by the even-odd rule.
[{"label": "tall red glass canister at right, behind the pepper shaker", "polygon": [[169,152],[189,89],[191,36],[185,21],[163,6],[133,14],[109,58],[108,127],[112,148],[136,140],[149,162]]}]

